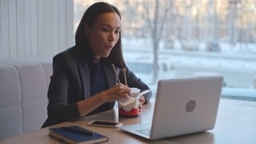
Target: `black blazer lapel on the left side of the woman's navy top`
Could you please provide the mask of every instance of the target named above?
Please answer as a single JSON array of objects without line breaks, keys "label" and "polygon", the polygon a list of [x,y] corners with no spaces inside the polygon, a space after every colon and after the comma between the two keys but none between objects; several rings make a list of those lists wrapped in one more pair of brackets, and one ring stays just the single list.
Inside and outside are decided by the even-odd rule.
[{"label": "black blazer lapel on the left side of the woman's navy top", "polygon": [[80,61],[78,63],[79,75],[82,77],[82,86],[84,88],[84,98],[90,97],[90,72],[87,61]]}]

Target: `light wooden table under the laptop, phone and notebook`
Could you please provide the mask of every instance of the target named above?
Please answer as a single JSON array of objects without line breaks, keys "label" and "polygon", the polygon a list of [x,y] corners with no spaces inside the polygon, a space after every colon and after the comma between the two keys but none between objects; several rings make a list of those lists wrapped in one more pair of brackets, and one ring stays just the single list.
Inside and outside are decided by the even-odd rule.
[{"label": "light wooden table under the laptop, phone and notebook", "polygon": [[[155,99],[143,105],[143,111],[137,118],[119,118],[118,109],[97,113],[76,122],[65,122],[53,127],[79,125],[86,129],[109,137],[106,143],[256,143],[256,103],[253,101],[221,99],[217,116],[216,127],[206,132],[176,136],[168,139],[149,141],[139,136],[126,133],[120,129],[90,127],[90,121],[110,121],[126,124],[149,123],[152,121]],[[48,136],[48,128],[33,131],[32,133],[0,140],[0,143],[60,143],[59,140]]]}]

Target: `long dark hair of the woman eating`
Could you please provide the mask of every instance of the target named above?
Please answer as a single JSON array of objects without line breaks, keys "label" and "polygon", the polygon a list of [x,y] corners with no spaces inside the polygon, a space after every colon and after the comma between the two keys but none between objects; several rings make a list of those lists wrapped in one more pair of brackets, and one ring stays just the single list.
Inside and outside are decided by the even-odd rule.
[{"label": "long dark hair of the woman eating", "polygon": [[[121,20],[120,11],[116,7],[108,3],[98,2],[98,3],[92,4],[85,11],[82,17],[82,20],[79,23],[77,32],[75,33],[75,45],[78,47],[78,49],[83,51],[83,55],[85,55],[85,57],[88,59],[92,58],[92,50],[89,46],[88,38],[85,37],[85,23],[89,27],[92,27],[94,26],[97,16],[103,13],[109,13],[109,12],[117,13]],[[103,59],[106,60],[106,62],[109,64],[114,63],[114,65],[117,66],[118,68],[126,67],[124,58],[123,58],[123,52],[122,52],[121,31],[119,33],[119,39],[117,41],[117,44],[115,44],[112,51],[109,53],[109,56]]]}]

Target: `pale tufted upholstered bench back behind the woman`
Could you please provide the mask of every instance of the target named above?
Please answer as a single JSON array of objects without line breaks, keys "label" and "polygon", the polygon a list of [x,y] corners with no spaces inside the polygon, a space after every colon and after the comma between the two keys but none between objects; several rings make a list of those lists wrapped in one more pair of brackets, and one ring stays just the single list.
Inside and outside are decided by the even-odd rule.
[{"label": "pale tufted upholstered bench back behind the woman", "polygon": [[52,73],[52,57],[0,62],[0,139],[40,129]]}]

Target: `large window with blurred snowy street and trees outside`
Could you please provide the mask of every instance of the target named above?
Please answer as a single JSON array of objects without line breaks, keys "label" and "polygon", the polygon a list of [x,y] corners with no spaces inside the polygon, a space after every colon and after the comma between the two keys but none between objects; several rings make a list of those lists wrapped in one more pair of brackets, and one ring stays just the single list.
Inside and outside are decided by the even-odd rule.
[{"label": "large window with blurred snowy street and trees outside", "polygon": [[[74,30],[95,2],[74,0]],[[121,12],[127,65],[150,86],[159,79],[224,75],[224,87],[256,95],[256,0],[105,2]]]}]

